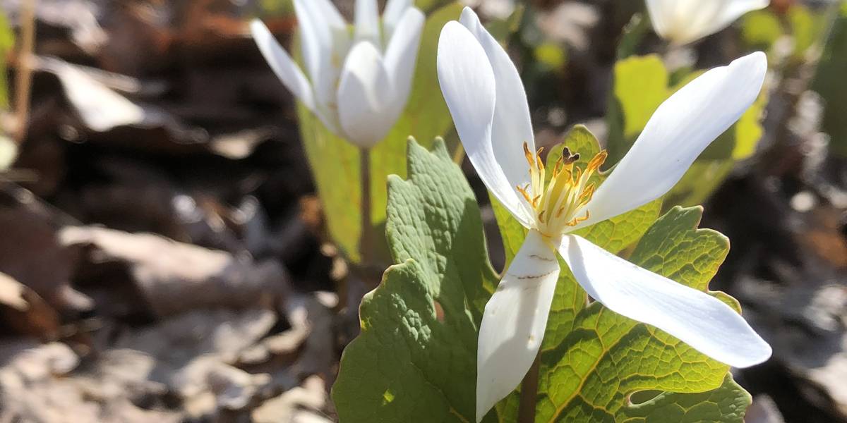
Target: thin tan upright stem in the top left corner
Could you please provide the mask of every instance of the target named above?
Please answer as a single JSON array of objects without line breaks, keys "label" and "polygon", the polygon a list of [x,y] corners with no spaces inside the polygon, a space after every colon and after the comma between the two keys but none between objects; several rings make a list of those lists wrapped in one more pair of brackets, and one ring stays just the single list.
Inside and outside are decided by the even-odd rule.
[{"label": "thin tan upright stem in the top left corner", "polygon": [[18,74],[15,78],[14,107],[17,127],[14,140],[21,145],[26,136],[30,113],[30,89],[32,88],[32,52],[36,39],[36,0],[25,0],[20,20],[20,50],[18,52]]}]

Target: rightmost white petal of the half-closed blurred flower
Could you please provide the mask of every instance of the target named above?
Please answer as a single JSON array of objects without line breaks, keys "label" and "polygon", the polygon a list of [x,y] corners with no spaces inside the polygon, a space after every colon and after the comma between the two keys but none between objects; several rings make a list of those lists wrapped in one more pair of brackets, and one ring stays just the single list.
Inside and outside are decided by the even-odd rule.
[{"label": "rightmost white petal of the half-closed blurred flower", "polygon": [[395,36],[385,49],[385,69],[392,80],[394,97],[392,111],[400,115],[412,91],[412,77],[418,58],[424,14],[417,8],[407,8],[399,21]]}]

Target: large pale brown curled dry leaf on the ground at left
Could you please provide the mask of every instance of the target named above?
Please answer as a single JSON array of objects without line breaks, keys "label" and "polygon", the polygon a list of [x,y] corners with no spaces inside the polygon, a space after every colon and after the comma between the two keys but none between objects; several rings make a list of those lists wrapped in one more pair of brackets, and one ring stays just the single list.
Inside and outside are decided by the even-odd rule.
[{"label": "large pale brown curled dry leaf on the ground at left", "polygon": [[241,261],[229,253],[152,233],[66,227],[62,244],[90,247],[89,260],[118,262],[158,316],[209,307],[245,308],[280,301],[288,276],[276,261]]}]

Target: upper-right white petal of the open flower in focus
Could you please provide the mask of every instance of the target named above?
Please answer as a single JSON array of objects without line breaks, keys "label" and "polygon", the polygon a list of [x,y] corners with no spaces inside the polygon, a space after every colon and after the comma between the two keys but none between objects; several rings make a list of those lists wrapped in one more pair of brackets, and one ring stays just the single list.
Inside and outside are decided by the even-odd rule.
[{"label": "upper-right white petal of the open flower in focus", "polygon": [[627,155],[585,206],[582,228],[656,200],[756,101],[767,72],[762,52],[711,69],[653,113]]}]

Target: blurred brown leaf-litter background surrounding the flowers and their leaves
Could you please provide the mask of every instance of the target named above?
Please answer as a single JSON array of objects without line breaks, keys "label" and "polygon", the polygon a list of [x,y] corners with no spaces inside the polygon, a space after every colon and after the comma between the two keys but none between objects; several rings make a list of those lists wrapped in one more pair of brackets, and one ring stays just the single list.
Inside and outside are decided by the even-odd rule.
[{"label": "blurred brown leaf-litter background surrounding the flowers and their leaves", "polygon": [[[673,203],[732,240],[711,288],[773,346],[735,374],[747,421],[847,421],[847,7],[772,0],[669,48],[640,0],[468,3],[507,28],[540,146],[621,136],[618,58],[658,53],[674,82],[768,53],[746,151],[706,157],[714,184]],[[373,287],[329,242],[295,104],[249,35],[261,18],[288,45],[291,2],[0,4],[0,422],[335,421]]]}]

